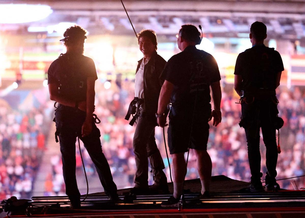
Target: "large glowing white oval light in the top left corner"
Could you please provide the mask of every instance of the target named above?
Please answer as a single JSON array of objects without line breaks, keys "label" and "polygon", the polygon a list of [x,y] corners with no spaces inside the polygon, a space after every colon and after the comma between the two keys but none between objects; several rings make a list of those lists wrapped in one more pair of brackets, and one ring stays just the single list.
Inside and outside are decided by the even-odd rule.
[{"label": "large glowing white oval light in the top left corner", "polygon": [[0,23],[27,23],[49,16],[53,10],[48,5],[0,4]]}]

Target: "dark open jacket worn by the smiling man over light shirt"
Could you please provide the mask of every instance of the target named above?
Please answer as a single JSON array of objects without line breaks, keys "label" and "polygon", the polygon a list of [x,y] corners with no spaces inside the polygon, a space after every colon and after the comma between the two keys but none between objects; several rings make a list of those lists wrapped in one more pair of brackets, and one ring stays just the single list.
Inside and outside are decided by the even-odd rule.
[{"label": "dark open jacket worn by the smiling man over light shirt", "polygon": [[[138,69],[143,61],[143,58],[138,61]],[[164,69],[166,61],[155,52],[149,62],[144,66],[144,103],[147,115],[154,115],[158,110],[158,100],[160,90],[163,85],[163,80],[160,75]]]}]

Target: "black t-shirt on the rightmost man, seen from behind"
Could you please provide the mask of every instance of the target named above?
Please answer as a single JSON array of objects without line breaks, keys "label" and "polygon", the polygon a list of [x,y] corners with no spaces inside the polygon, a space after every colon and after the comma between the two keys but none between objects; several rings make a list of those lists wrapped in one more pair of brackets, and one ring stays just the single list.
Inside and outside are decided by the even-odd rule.
[{"label": "black t-shirt on the rightmost man, seen from behind", "polygon": [[256,91],[259,88],[276,89],[276,76],[284,70],[281,55],[262,45],[240,53],[235,64],[235,75],[242,76],[242,90]]}]

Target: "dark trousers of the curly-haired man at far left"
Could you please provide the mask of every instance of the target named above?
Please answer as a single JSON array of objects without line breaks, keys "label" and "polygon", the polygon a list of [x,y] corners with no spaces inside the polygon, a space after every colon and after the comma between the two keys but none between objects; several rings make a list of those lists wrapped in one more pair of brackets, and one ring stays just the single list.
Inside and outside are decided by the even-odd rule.
[{"label": "dark trousers of the curly-haired man at far left", "polygon": [[113,182],[109,164],[102,152],[100,131],[96,127],[93,118],[92,132],[88,136],[81,136],[81,126],[85,116],[86,114],[83,111],[71,107],[59,107],[55,113],[56,129],[60,131],[59,144],[63,161],[63,178],[66,185],[66,194],[71,201],[80,199],[75,175],[75,142],[77,136],[84,142],[84,147],[95,165],[105,194],[108,196],[117,195],[117,186]]}]

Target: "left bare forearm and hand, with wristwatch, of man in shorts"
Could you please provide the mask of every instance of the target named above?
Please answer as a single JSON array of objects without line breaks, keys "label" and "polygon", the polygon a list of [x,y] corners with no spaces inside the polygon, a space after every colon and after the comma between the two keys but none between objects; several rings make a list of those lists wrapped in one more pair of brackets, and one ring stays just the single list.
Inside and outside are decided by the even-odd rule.
[{"label": "left bare forearm and hand, with wristwatch, of man in shorts", "polygon": [[[159,102],[158,102],[158,114],[163,114],[167,108],[167,104],[170,102],[170,96],[173,92],[174,84],[168,82],[167,80],[164,81],[163,86],[161,87]],[[166,117],[158,117],[157,122],[160,127],[167,126],[166,125]]]}]

